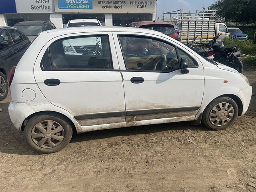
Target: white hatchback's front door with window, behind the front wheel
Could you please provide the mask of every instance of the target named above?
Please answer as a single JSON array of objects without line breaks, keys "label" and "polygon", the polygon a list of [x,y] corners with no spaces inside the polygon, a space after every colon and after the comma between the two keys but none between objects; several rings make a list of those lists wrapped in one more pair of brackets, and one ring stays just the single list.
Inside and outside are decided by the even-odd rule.
[{"label": "white hatchback's front door with window, behind the front wheel", "polygon": [[[113,35],[124,79],[126,121],[181,116],[194,120],[204,92],[200,60],[159,36]],[[181,73],[181,58],[189,61],[188,74]]]}]

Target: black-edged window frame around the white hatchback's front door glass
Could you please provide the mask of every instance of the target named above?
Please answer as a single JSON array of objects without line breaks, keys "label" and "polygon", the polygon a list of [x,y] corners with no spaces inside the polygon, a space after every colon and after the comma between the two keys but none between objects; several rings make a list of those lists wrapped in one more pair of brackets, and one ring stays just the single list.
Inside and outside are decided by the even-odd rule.
[{"label": "black-edged window frame around the white hatchback's front door glass", "polygon": [[[120,42],[120,39],[119,39],[119,37],[122,37],[122,36],[126,36],[126,37],[137,37],[137,38],[140,38],[140,37],[142,37],[142,38],[149,38],[149,39],[153,39],[153,40],[157,40],[157,41],[160,41],[160,42],[163,42],[163,43],[165,43],[165,44],[168,44],[168,45],[170,45],[170,46],[172,46],[172,47],[174,47],[175,48],[175,52],[176,52],[176,55],[177,55],[177,58],[178,58],[178,63],[179,63],[179,68],[177,68],[177,69],[174,69],[174,70],[168,70],[168,71],[162,71],[162,70],[140,70],[140,69],[127,69],[127,67],[126,67],[126,61],[125,61],[125,59],[124,59],[124,54],[123,54],[123,51],[122,51],[122,46],[121,46],[121,42]],[[180,58],[180,55],[179,55],[179,53],[178,53],[178,49],[180,49],[180,48],[178,48],[177,46],[175,46],[174,44],[172,44],[172,43],[170,43],[170,42],[168,42],[168,41],[166,41],[166,40],[162,40],[162,39],[160,39],[160,38],[155,38],[155,37],[150,37],[150,36],[144,36],[144,35],[137,35],[137,34],[118,34],[117,35],[117,38],[118,38],[118,42],[119,42],[119,46],[120,46],[120,49],[121,49],[121,52],[122,52],[122,57],[123,57],[123,60],[124,60],[124,66],[125,66],[125,70],[120,70],[120,71],[129,71],[129,72],[152,72],[152,73],[170,73],[170,72],[173,72],[173,71],[176,71],[176,70],[180,70],[181,68],[180,68],[180,60],[181,60],[181,58]],[[180,50],[182,50],[182,49],[180,49]],[[185,52],[184,50],[182,50],[183,52]],[[186,52],[185,52],[186,53]],[[186,53],[187,54],[187,53]],[[196,64],[196,66],[189,66],[188,68],[198,68],[198,62],[194,59],[194,58],[192,58],[189,54],[187,54],[192,60],[193,60],[193,62]]]}]

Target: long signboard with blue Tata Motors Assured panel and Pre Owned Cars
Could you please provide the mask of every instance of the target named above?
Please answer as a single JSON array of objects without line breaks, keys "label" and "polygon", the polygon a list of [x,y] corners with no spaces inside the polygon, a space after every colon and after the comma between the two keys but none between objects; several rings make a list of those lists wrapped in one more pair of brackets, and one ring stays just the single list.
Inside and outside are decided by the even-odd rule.
[{"label": "long signboard with blue Tata Motors Assured panel and Pre Owned Cars", "polygon": [[54,0],[55,12],[154,13],[156,0]]}]

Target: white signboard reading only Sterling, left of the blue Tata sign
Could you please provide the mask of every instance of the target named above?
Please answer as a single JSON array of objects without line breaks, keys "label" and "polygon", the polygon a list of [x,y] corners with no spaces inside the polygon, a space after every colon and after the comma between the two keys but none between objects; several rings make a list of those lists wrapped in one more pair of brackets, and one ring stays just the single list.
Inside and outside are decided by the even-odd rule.
[{"label": "white signboard reading only Sterling, left of the blue Tata sign", "polygon": [[17,13],[53,13],[53,0],[15,0]]}]

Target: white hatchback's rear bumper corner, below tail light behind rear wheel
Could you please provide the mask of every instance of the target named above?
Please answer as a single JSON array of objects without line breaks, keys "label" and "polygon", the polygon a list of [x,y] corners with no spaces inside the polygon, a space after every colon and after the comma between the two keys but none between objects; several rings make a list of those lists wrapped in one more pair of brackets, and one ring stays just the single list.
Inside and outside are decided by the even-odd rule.
[{"label": "white hatchback's rear bumper corner, below tail light behind rear wheel", "polygon": [[12,124],[20,131],[24,120],[31,114],[35,113],[30,105],[16,102],[10,102],[8,111]]}]

